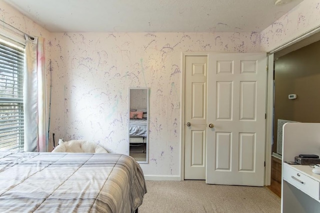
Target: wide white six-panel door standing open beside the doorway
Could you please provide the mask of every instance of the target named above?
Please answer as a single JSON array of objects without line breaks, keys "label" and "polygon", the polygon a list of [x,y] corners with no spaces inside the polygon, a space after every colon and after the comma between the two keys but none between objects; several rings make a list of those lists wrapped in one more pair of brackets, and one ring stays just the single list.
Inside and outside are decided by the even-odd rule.
[{"label": "wide white six-panel door standing open beside the doorway", "polygon": [[263,186],[266,54],[208,55],[206,183]]}]

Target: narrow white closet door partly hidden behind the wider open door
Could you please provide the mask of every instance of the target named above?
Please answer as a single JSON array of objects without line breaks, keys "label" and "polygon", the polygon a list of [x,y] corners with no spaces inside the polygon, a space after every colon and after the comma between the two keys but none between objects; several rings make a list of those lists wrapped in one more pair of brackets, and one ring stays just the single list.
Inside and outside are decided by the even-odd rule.
[{"label": "narrow white closet door partly hidden behind the wider open door", "polygon": [[207,56],[185,56],[185,180],[205,179],[206,91]]}]

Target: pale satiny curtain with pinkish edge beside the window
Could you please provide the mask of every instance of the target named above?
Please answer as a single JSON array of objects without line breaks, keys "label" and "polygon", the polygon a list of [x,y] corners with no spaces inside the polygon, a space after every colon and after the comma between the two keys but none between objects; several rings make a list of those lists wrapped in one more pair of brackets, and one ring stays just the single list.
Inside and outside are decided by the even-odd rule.
[{"label": "pale satiny curtain with pinkish edge beside the window", "polygon": [[25,35],[23,110],[24,151],[48,151],[43,38]]}]

